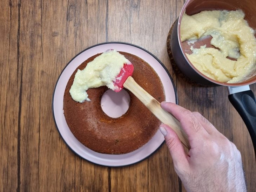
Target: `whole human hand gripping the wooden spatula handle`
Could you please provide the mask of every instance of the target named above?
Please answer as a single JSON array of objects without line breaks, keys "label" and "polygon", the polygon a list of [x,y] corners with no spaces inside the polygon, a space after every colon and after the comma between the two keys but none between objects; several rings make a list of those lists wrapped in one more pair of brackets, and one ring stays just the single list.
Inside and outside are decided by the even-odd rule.
[{"label": "whole human hand gripping the wooden spatula handle", "polygon": [[241,154],[236,146],[198,112],[162,102],[164,110],[180,121],[191,146],[185,153],[176,133],[160,125],[174,169],[187,191],[246,191]]}]

